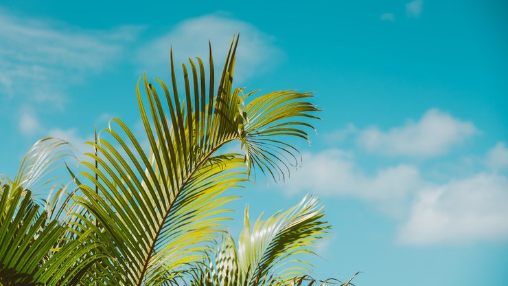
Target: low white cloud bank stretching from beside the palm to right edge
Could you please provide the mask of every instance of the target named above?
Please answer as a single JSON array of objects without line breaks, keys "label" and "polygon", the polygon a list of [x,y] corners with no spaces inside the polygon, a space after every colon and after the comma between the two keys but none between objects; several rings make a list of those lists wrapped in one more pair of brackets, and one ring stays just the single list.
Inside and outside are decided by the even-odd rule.
[{"label": "low white cloud bank stretching from beside the palm to right edge", "polygon": [[352,151],[330,148],[303,153],[301,168],[279,188],[288,195],[310,192],[371,203],[399,218],[395,239],[406,245],[508,239],[508,177],[489,170],[439,182],[422,176],[419,166],[401,162],[369,175]]}]

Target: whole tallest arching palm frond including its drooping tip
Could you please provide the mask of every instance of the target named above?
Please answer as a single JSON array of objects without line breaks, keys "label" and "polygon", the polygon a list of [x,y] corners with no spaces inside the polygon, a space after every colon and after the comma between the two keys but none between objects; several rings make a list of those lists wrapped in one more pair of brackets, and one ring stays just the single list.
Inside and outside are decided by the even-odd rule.
[{"label": "whole tallest arching palm frond including its drooping tip", "polygon": [[[139,83],[137,100],[148,154],[139,137],[116,118],[102,131],[107,137],[89,142],[97,155],[86,155],[97,167],[82,163],[87,170],[80,174],[91,184],[80,184],[86,197],[76,199],[97,219],[97,235],[103,236],[117,264],[114,283],[162,285],[177,276],[180,267],[200,260],[216,238],[220,221],[227,219],[227,210],[220,207],[235,199],[221,194],[246,180],[244,167],[259,166],[276,178],[275,168],[288,164],[286,156],[295,157],[296,151],[277,138],[308,139],[305,131],[298,131],[308,124],[294,118],[313,117],[308,114],[317,110],[312,104],[295,101],[310,94],[281,91],[243,108],[251,94],[242,96],[242,89],[232,88],[237,45],[238,38],[231,44],[217,88],[211,52],[208,84],[200,58],[197,64],[189,59],[190,72],[182,65],[182,97],[173,59],[172,92],[156,79],[163,90],[159,96],[143,76],[146,100]],[[244,143],[245,155],[219,155],[218,150],[233,140]]]}]

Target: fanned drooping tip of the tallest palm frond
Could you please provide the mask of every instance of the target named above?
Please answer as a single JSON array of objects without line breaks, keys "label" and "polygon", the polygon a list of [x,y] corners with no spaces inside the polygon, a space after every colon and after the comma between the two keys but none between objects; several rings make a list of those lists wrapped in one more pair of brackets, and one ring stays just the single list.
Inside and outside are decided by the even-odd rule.
[{"label": "fanned drooping tip of the tallest palm frond", "polygon": [[[247,94],[244,100],[255,93],[256,91]],[[311,93],[301,94],[293,90],[275,91],[246,104],[242,110],[246,122],[240,140],[245,149],[247,175],[250,175],[252,167],[257,167],[262,173],[269,173],[275,181],[284,181],[286,175],[290,173],[288,167],[298,166],[301,156],[298,159],[296,155],[299,155],[299,152],[280,138],[300,137],[310,142],[307,131],[302,127],[309,129],[314,127],[303,121],[303,118],[319,119],[310,114],[319,109],[305,101],[311,97]]]}]

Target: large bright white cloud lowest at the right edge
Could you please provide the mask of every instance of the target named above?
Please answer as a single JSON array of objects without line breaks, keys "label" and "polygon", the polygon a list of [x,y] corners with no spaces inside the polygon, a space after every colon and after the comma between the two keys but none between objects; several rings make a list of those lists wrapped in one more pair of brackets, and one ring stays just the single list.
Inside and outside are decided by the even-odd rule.
[{"label": "large bright white cloud lowest at the right edge", "polygon": [[402,243],[472,243],[508,239],[508,178],[481,173],[420,193],[400,228]]}]

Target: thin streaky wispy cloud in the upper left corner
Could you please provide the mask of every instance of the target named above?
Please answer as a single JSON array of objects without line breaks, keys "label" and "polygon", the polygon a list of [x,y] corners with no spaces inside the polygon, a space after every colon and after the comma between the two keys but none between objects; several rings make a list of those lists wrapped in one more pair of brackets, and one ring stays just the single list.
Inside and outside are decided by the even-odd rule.
[{"label": "thin streaky wispy cloud in the upper left corner", "polygon": [[[122,60],[140,26],[86,30],[0,7],[0,120],[27,141],[54,136],[78,146],[90,136],[49,126],[45,115],[65,112],[71,88]],[[8,109],[7,109],[8,107]]]}]

